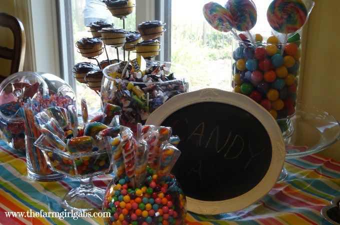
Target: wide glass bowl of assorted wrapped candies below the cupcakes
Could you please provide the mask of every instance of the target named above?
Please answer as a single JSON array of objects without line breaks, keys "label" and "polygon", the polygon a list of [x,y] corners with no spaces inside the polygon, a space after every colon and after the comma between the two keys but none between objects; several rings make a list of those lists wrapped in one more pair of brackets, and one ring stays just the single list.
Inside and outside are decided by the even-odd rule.
[{"label": "wide glass bowl of assorted wrapped candies below the cupcakes", "polygon": [[170,62],[145,61],[142,56],[111,64],[103,69],[101,106],[122,108],[120,122],[136,131],[148,115],[167,99],[188,91],[186,70]]}]

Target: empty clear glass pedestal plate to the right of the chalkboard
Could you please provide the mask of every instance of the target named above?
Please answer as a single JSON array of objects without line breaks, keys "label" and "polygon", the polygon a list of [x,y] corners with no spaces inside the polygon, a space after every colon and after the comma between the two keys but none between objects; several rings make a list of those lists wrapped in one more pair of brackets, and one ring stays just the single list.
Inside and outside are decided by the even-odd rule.
[{"label": "empty clear glass pedestal plate to the right of the chalkboard", "polygon": [[[294,115],[277,121],[285,126],[285,158],[296,158],[319,152],[340,138],[340,123],[330,114],[318,108],[297,104]],[[287,176],[282,169],[279,181]]]}]

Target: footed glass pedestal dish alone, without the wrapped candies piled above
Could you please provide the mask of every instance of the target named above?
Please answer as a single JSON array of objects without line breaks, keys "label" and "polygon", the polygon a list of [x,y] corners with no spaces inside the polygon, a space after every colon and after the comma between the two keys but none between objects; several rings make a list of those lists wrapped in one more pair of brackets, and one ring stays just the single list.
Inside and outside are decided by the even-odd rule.
[{"label": "footed glass pedestal dish alone, without the wrapped candies piled above", "polygon": [[46,146],[45,136],[34,142],[39,147],[49,167],[66,176],[80,179],[80,185],[68,191],[61,206],[69,211],[91,211],[100,209],[105,190],[93,185],[92,177],[112,172],[111,154],[105,148],[97,151],[70,154]]}]

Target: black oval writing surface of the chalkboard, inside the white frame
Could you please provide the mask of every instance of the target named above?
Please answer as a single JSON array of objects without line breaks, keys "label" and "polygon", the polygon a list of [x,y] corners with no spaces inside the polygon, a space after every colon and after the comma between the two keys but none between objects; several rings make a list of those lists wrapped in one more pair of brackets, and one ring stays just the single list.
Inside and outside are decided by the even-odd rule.
[{"label": "black oval writing surface of the chalkboard, inside the white frame", "polygon": [[173,167],[184,193],[225,200],[252,189],[267,172],[271,143],[263,125],[233,105],[201,102],[169,115],[161,125],[180,137]]}]

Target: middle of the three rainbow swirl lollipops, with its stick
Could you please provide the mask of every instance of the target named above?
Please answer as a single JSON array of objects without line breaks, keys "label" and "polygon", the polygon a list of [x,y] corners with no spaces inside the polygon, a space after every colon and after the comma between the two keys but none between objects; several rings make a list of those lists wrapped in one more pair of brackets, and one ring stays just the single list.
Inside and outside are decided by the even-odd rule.
[{"label": "middle of the three rainbow swirl lollipops, with its stick", "polygon": [[233,25],[239,31],[246,31],[251,42],[255,42],[249,30],[254,27],[257,20],[255,4],[251,0],[228,0],[225,8],[230,11]]}]

